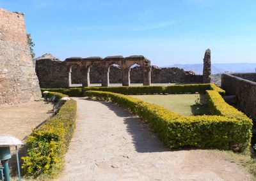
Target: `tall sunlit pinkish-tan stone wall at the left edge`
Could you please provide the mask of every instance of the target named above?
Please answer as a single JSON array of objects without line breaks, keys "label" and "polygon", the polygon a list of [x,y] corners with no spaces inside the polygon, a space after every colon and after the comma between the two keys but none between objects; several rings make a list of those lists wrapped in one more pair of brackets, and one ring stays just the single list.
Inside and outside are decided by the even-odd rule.
[{"label": "tall sunlit pinkish-tan stone wall at the left edge", "polygon": [[24,15],[0,8],[0,105],[40,98]]}]

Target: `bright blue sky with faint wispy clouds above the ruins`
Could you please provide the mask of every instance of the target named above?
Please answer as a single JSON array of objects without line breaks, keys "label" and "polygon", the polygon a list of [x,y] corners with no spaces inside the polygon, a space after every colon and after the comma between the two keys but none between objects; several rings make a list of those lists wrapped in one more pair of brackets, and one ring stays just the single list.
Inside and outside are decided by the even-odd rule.
[{"label": "bright blue sky with faint wispy clouds above the ruins", "polygon": [[0,7],[25,14],[36,57],[145,55],[168,66],[201,63],[211,48],[213,63],[256,62],[253,0],[0,0]]}]

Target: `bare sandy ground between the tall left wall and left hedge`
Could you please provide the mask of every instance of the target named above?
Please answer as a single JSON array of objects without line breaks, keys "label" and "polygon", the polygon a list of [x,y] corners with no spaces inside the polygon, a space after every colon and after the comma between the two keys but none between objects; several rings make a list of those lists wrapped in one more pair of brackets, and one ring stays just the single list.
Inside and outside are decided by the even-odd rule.
[{"label": "bare sandy ground between the tall left wall and left hedge", "polygon": [[11,134],[24,141],[32,133],[31,129],[52,115],[51,110],[51,103],[44,101],[0,107],[0,134]]}]

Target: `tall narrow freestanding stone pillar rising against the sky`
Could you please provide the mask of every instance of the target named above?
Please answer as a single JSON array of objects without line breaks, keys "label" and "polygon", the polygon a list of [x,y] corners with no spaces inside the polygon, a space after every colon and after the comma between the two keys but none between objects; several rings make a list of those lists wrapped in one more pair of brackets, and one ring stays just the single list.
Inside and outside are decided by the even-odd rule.
[{"label": "tall narrow freestanding stone pillar rising against the sky", "polygon": [[204,70],[203,70],[203,83],[211,82],[211,50],[205,50],[204,54]]}]

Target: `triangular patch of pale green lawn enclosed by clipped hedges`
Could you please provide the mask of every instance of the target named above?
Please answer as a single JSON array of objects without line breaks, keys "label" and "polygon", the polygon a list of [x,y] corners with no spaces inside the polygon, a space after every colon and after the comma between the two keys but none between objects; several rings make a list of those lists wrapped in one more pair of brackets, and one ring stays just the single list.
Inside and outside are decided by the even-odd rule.
[{"label": "triangular patch of pale green lawn enclosed by clipped hedges", "polygon": [[132,95],[182,115],[209,115],[205,94]]}]

